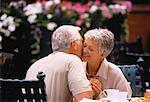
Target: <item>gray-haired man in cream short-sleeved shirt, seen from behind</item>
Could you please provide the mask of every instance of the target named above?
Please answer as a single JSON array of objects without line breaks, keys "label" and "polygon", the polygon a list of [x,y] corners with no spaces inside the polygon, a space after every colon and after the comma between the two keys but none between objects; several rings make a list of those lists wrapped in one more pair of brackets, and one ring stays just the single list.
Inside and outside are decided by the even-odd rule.
[{"label": "gray-haired man in cream short-sleeved shirt, seen from behind", "polygon": [[81,57],[80,28],[63,25],[52,35],[53,53],[35,62],[27,71],[27,80],[36,79],[38,72],[46,74],[45,84],[49,102],[69,102],[93,98]]}]

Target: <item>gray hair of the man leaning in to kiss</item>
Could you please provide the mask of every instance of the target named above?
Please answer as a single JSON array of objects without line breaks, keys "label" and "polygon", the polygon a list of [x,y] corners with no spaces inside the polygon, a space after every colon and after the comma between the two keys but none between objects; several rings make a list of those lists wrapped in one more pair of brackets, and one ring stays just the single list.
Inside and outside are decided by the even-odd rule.
[{"label": "gray hair of the man leaning in to kiss", "polygon": [[81,28],[72,25],[63,25],[57,28],[52,35],[53,51],[64,51],[70,48],[72,41],[77,40],[77,34]]}]

